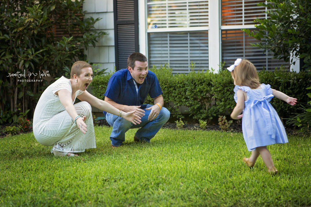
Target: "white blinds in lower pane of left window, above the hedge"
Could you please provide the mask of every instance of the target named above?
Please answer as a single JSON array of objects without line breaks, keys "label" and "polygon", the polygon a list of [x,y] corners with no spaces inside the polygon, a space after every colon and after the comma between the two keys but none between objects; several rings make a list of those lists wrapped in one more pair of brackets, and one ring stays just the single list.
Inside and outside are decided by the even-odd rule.
[{"label": "white blinds in lower pane of left window, above the hedge", "polygon": [[168,63],[173,73],[185,73],[192,61],[194,70],[208,70],[207,32],[149,33],[148,40],[149,67]]}]

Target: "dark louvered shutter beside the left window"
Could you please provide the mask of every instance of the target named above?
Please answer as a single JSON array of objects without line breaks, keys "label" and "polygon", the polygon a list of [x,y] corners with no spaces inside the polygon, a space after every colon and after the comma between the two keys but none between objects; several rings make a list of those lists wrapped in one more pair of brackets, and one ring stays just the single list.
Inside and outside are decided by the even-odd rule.
[{"label": "dark louvered shutter beside the left window", "polygon": [[114,0],[116,70],[127,68],[128,56],[139,52],[138,0]]}]

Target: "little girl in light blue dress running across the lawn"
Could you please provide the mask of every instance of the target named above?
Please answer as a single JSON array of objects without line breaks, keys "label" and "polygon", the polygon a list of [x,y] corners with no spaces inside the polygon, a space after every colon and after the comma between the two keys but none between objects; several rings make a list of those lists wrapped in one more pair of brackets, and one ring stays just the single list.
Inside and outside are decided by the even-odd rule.
[{"label": "little girl in light blue dress running across the lawn", "polygon": [[297,99],[271,89],[269,84],[260,84],[256,67],[246,59],[236,59],[227,69],[234,80],[234,100],[237,103],[230,116],[233,119],[243,116],[243,137],[248,151],[252,151],[251,156],[243,161],[253,167],[260,154],[268,172],[275,175],[278,171],[267,145],[284,144],[288,139],[280,117],[269,102],[275,96],[294,106]]}]

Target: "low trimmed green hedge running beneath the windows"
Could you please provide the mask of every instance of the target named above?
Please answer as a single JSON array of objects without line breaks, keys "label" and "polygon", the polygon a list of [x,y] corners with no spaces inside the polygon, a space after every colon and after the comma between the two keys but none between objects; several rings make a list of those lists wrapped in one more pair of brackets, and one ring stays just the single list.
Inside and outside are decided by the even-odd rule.
[{"label": "low trimmed green hedge running beneath the windows", "polygon": [[[210,120],[218,115],[228,115],[235,106],[233,99],[233,80],[230,72],[224,70],[219,73],[194,72],[173,75],[172,70],[164,67],[151,69],[163,91],[164,106],[171,112],[171,117],[183,117],[179,113],[180,106],[188,107],[187,113],[196,120]],[[103,77],[94,77],[92,85],[93,95],[104,99],[104,92],[112,73]],[[260,71],[260,82],[270,84],[273,89],[295,97],[300,103],[306,103],[308,96],[305,88],[311,85],[311,73],[301,71]],[[96,86],[96,87],[94,87]],[[213,103],[215,102],[215,104]],[[148,96],[146,104],[153,104]],[[284,101],[274,98],[271,104],[280,117],[288,118],[291,113],[297,113],[298,107],[292,107]]]}]

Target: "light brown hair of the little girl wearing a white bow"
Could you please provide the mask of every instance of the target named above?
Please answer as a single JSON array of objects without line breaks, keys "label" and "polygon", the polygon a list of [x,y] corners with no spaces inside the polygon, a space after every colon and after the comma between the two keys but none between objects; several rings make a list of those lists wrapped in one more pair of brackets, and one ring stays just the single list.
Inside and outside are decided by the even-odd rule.
[{"label": "light brown hair of the little girl wearing a white bow", "polygon": [[247,59],[242,59],[240,64],[234,67],[231,74],[236,85],[248,86],[252,89],[256,89],[260,86],[256,67]]}]

